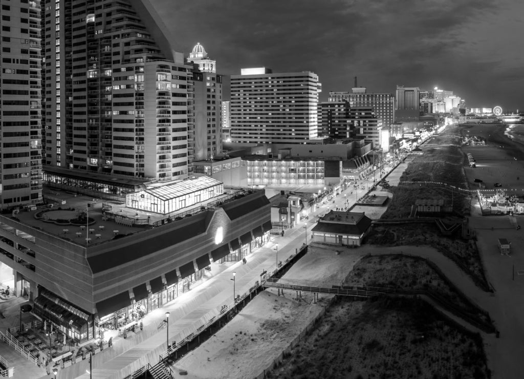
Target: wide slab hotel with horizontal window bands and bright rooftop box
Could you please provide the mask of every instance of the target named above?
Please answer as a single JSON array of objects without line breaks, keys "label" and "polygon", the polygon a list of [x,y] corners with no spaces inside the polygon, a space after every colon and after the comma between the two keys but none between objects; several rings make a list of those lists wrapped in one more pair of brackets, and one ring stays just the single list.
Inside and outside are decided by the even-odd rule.
[{"label": "wide slab hotel with horizontal window bands and bright rooftop box", "polygon": [[305,144],[318,137],[320,91],[310,71],[231,75],[231,142]]}]

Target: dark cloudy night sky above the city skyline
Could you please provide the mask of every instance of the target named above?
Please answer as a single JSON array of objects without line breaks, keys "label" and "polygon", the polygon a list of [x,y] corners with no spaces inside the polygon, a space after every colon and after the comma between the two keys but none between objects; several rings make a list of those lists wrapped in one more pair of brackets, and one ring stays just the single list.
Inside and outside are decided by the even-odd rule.
[{"label": "dark cloudy night sky above the city skyline", "polygon": [[188,55],[217,72],[313,71],[329,91],[453,91],[467,107],[524,112],[522,0],[151,0]]}]

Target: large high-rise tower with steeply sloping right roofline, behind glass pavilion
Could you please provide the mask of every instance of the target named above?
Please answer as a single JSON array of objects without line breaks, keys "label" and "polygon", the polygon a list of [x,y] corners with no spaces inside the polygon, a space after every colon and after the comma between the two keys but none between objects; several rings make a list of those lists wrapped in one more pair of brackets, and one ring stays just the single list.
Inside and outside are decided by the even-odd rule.
[{"label": "large high-rise tower with steeply sloping right roofline, behind glass pavilion", "polygon": [[51,0],[45,29],[46,172],[183,179],[188,70],[148,0]]}]

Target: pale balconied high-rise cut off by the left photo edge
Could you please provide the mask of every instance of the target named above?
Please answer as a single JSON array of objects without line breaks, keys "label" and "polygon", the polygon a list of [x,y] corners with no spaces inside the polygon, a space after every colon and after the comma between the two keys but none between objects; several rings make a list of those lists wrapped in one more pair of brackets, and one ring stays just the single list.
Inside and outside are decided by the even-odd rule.
[{"label": "pale balconied high-rise cut off by the left photo edge", "polygon": [[39,203],[40,0],[0,0],[0,208]]}]

